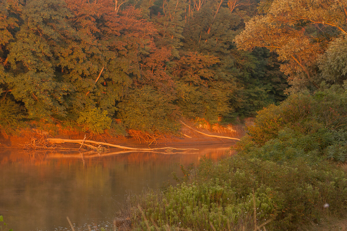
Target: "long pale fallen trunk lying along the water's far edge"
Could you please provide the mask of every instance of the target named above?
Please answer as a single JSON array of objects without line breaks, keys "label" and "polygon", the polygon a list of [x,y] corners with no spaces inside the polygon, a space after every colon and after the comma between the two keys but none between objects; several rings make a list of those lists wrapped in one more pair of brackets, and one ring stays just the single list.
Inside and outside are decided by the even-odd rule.
[{"label": "long pale fallen trunk lying along the water's far edge", "polygon": [[171,148],[171,147],[164,147],[164,148],[130,148],[126,146],[120,146],[117,144],[110,144],[110,143],[105,143],[105,142],[98,142],[98,141],[93,141],[93,140],[68,140],[68,139],[60,139],[60,138],[47,138],[47,142],[52,143],[52,144],[61,144],[61,143],[76,143],[76,144],[81,144],[82,142],[88,143],[88,144],[98,144],[98,145],[105,145],[109,147],[114,147],[114,148],[120,148],[120,149],[125,149],[125,150],[145,150],[145,151],[151,151],[151,150],[160,150],[164,149],[167,151],[170,151],[172,149],[174,150],[198,150],[194,148]]}]

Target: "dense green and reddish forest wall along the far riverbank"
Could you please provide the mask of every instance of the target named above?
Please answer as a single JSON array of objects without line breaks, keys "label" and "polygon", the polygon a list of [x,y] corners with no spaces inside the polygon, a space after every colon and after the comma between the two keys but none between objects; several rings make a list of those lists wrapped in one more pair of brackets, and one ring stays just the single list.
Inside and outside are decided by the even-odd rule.
[{"label": "dense green and reddish forest wall along the far riverbank", "polygon": [[2,1],[0,127],[174,133],[179,118],[225,124],[254,116],[288,87],[276,51],[234,42],[257,5]]}]

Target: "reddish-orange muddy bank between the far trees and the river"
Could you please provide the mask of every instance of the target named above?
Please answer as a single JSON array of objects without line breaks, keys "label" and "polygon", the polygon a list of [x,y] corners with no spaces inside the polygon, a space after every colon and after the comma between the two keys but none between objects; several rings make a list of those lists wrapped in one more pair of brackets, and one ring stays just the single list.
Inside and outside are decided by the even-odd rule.
[{"label": "reddish-orange muddy bank between the far trees and the river", "polygon": [[[190,125],[191,126],[191,125]],[[228,136],[234,138],[240,138],[245,134],[244,124],[227,125],[219,127],[211,127],[206,124],[198,124],[192,126],[194,130],[200,131],[209,135]],[[130,133],[128,136],[111,136],[109,134],[92,135],[90,133],[83,133],[77,131],[58,131],[58,133],[52,134],[49,131],[26,129],[20,131],[16,135],[9,135],[6,131],[0,132],[0,148],[1,149],[26,149],[28,143],[35,143],[35,140],[47,138],[60,138],[71,140],[93,140],[98,142],[105,142],[110,144],[117,144],[128,147],[139,146],[175,146],[175,145],[199,145],[199,144],[217,144],[217,143],[235,143],[236,140],[222,139],[218,137],[209,137],[200,134],[184,125],[175,135],[157,135],[153,137],[145,137],[143,134]],[[34,145],[35,146],[35,145]],[[37,149],[40,149],[40,145]],[[79,148],[79,144],[63,143],[59,144],[62,148]],[[33,147],[33,146],[29,146]],[[85,147],[86,148],[86,147]]]}]

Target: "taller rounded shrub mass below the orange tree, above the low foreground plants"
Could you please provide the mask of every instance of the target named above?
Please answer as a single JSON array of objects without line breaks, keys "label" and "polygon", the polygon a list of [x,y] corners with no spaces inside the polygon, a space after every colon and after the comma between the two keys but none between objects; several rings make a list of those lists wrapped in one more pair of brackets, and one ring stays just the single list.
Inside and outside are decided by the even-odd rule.
[{"label": "taller rounded shrub mass below the orange tree, above the low foreground plants", "polygon": [[[310,156],[325,155],[344,161],[347,153],[342,146],[347,136],[342,128],[347,124],[346,104],[346,90],[334,86],[312,95],[292,95],[279,106],[260,111],[236,150],[251,154],[250,150],[262,147],[253,156],[274,161],[308,152]],[[333,150],[340,150],[340,156]]]}]

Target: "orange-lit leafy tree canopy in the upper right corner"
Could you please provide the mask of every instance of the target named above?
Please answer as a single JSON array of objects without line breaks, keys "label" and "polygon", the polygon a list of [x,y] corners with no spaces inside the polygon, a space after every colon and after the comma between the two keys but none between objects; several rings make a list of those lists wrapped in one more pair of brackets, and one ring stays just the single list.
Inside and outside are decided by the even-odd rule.
[{"label": "orange-lit leafy tree canopy in the upper right corner", "polygon": [[[346,35],[346,7],[347,2],[343,0],[262,1],[259,8],[263,14],[248,21],[235,41],[246,50],[260,46],[276,52],[279,60],[285,62],[281,69],[289,76],[293,90],[310,85],[318,88],[322,80],[335,81],[331,80],[332,72],[328,69],[336,64],[336,59],[343,59],[344,54],[336,45],[343,44]],[[320,59],[325,50],[327,54],[322,63]],[[335,61],[332,60],[336,55]],[[344,67],[336,68],[335,72],[342,74],[340,71]],[[341,80],[337,76],[333,78]]]}]

